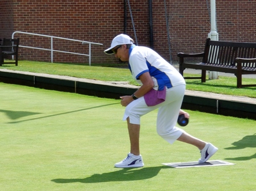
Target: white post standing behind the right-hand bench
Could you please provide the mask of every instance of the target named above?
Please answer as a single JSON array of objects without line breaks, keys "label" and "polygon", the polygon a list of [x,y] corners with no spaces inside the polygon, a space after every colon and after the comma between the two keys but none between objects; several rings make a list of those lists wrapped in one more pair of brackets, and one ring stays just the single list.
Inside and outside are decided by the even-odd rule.
[{"label": "white post standing behind the right-hand bench", "polygon": [[[211,40],[219,40],[219,34],[216,29],[216,1],[211,0],[211,32],[208,34]],[[209,72],[209,79],[218,79],[218,72]]]}]

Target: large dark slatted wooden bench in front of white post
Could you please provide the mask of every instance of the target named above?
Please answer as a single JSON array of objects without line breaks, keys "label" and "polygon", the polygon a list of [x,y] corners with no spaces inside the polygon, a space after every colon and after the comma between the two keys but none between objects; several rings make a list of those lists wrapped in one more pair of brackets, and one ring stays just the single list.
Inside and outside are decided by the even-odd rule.
[{"label": "large dark slatted wooden bench in front of white post", "polygon": [[[184,79],[201,79],[205,82],[206,71],[234,73],[237,88],[256,86],[242,84],[242,75],[256,74],[256,43],[213,41],[207,38],[204,52],[184,54],[179,52],[179,72],[183,76],[186,68],[202,70],[201,77],[184,77]],[[184,58],[202,57],[202,63],[185,63]]]}]

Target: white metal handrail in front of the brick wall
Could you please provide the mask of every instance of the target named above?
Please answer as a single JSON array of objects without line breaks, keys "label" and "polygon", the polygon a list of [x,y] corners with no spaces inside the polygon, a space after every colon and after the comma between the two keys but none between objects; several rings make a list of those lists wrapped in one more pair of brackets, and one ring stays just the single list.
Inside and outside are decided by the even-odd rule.
[{"label": "white metal handrail in front of the brick wall", "polygon": [[[89,56],[89,65],[91,65],[91,45],[92,44],[93,45],[103,45],[102,43],[88,42],[88,41],[84,41],[84,40],[74,40],[74,39],[71,39],[71,38],[62,38],[62,37],[58,37],[58,36],[49,36],[49,35],[45,35],[45,34],[27,33],[27,32],[22,32],[22,31],[13,32],[12,33],[12,38],[14,38],[14,34],[16,34],[16,33],[29,34],[29,35],[35,35],[35,36],[44,36],[44,37],[51,38],[51,49],[42,49],[42,48],[38,48],[38,47],[28,47],[28,46],[19,45],[19,47],[24,47],[24,48],[29,48],[29,49],[38,49],[38,50],[51,51],[51,63],[53,63],[53,52],[63,52],[63,53],[68,53],[68,54],[77,54],[77,55],[82,55],[82,56]],[[53,49],[53,38],[58,38],[58,39],[62,39],[62,40],[70,40],[70,41],[75,41],[75,42],[81,42],[83,45],[88,44],[89,45],[89,54],[81,54],[81,53],[76,53],[76,52],[67,52],[67,51],[61,51],[61,50],[54,50]]]}]

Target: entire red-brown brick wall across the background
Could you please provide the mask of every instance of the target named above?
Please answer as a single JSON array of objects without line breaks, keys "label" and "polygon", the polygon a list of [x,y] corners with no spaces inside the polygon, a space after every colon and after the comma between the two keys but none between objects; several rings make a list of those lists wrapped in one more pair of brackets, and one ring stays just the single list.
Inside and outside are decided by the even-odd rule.
[{"label": "entire red-brown brick wall across the background", "polygon": [[[210,5],[210,0],[207,0]],[[177,62],[177,52],[202,52],[211,29],[207,1],[166,0],[168,29],[172,61]],[[150,46],[148,0],[131,1],[132,17],[139,45]],[[170,61],[164,1],[152,1],[154,49]],[[210,7],[209,7],[210,8]],[[216,1],[219,40],[255,42],[255,8],[250,0]],[[126,31],[134,40],[129,6],[126,4],[124,27],[124,1],[120,0],[0,0],[0,38],[13,31],[47,34],[103,43],[92,45],[92,63],[118,63],[107,56],[108,48],[116,34]],[[20,45],[50,48],[50,40],[38,36],[15,34]],[[54,49],[88,54],[88,45],[54,40]],[[51,61],[46,50],[20,48],[20,59]],[[54,52],[54,62],[88,63],[88,57]]]}]

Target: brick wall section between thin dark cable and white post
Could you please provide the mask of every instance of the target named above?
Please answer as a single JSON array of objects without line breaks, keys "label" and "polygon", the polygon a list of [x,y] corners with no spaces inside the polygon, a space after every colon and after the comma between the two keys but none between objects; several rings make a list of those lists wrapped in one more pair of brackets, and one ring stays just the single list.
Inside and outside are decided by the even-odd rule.
[{"label": "brick wall section between thin dark cable and white post", "polygon": [[211,29],[205,1],[175,0],[169,13],[173,60],[177,60],[177,52],[202,52]]}]

